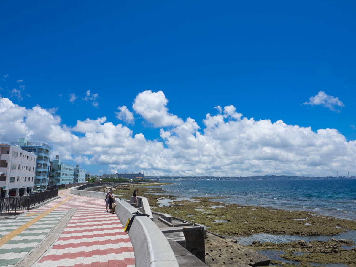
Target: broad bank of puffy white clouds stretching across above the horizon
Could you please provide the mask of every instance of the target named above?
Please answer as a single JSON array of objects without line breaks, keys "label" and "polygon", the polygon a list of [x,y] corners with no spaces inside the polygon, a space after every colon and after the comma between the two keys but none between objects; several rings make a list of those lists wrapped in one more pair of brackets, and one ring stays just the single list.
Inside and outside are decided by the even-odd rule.
[{"label": "broad bank of puffy white clouds stretching across above the horizon", "polygon": [[[86,93],[95,102],[97,94]],[[77,97],[70,95],[75,101]],[[92,104],[93,104],[92,103]],[[347,141],[336,129],[287,125],[282,120],[248,119],[233,105],[216,106],[216,114],[206,114],[201,129],[194,118],[185,121],[168,112],[163,91],[139,93],[132,110],[119,106],[116,118],[134,124],[141,116],[159,136],[147,140],[106,117],[62,124],[56,109],[37,105],[31,109],[0,96],[0,141],[17,142],[26,132],[34,142],[53,146],[52,157],[77,163],[108,166],[104,172],[133,172],[146,175],[315,175],[335,176],[337,170],[356,171],[356,140]],[[305,105],[334,109],[343,103],[320,91]],[[95,106],[95,104],[93,104]],[[101,173],[100,173],[101,174]]]}]

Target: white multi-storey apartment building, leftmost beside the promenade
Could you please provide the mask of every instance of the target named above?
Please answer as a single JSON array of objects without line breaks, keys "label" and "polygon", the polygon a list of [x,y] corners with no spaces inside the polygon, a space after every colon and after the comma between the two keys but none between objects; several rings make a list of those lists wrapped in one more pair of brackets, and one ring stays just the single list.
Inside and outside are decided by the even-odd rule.
[{"label": "white multi-storey apartment building, leftmost beside the promenade", "polygon": [[7,143],[0,144],[0,197],[30,194],[35,177],[36,154]]}]

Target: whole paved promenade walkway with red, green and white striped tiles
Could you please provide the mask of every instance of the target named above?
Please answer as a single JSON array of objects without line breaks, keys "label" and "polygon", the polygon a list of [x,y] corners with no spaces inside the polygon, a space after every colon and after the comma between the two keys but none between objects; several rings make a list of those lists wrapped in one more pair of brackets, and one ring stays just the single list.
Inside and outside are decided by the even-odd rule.
[{"label": "whole paved promenade walkway with red, green and white striped tiles", "polygon": [[75,213],[58,240],[47,251],[41,251],[34,266],[135,266],[130,238],[116,214],[105,212],[104,200],[69,192],[59,191],[61,198],[17,219],[0,220],[0,266],[25,261],[73,209]]}]

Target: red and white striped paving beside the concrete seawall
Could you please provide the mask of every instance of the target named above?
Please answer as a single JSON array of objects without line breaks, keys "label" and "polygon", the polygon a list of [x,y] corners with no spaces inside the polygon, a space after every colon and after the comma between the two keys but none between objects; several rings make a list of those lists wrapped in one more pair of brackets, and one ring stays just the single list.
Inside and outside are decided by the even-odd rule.
[{"label": "red and white striped paving beside the concrete seawall", "polygon": [[[60,199],[33,212],[52,208],[71,196],[69,190],[61,191]],[[131,240],[116,214],[105,212],[104,200],[74,196],[52,212],[72,207],[78,207],[77,211],[53,247],[36,263],[36,267],[135,266]]]}]

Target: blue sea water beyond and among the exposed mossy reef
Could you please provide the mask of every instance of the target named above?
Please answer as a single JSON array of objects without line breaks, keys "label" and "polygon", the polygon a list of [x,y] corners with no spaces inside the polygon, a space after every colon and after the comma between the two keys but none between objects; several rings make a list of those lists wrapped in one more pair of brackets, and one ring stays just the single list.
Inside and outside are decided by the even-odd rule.
[{"label": "blue sea water beyond and among the exposed mossy reef", "polygon": [[[161,181],[172,182],[172,181]],[[304,210],[356,220],[356,179],[344,180],[204,180],[174,181],[162,187],[169,194],[182,197],[224,197],[213,200],[221,203],[262,206],[272,209]],[[258,238],[257,238],[258,237]],[[305,241],[330,240],[333,236],[304,237]],[[299,237],[300,238],[300,237]],[[356,232],[350,231],[337,239],[356,242]],[[298,236],[260,235],[238,238],[240,244],[261,242],[289,242]]]}]

